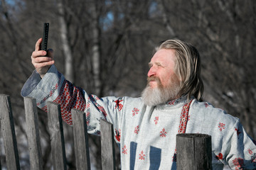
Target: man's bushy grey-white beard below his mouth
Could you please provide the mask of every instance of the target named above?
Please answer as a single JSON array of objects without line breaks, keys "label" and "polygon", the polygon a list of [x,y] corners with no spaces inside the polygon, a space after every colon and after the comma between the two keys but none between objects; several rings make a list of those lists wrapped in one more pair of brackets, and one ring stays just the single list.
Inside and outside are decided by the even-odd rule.
[{"label": "man's bushy grey-white beard below his mouth", "polygon": [[142,101],[147,106],[157,106],[175,99],[178,96],[179,91],[179,84],[170,84],[167,87],[159,84],[153,89],[149,86],[149,84],[147,84],[146,88],[142,91]]}]

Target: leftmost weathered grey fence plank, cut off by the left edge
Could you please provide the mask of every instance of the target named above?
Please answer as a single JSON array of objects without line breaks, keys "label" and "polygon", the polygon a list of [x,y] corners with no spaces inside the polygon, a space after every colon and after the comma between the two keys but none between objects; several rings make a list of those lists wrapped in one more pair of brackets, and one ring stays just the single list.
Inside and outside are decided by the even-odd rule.
[{"label": "leftmost weathered grey fence plank, cut off by the left edge", "polygon": [[10,96],[0,94],[0,111],[1,132],[4,138],[7,168],[11,170],[20,169]]}]

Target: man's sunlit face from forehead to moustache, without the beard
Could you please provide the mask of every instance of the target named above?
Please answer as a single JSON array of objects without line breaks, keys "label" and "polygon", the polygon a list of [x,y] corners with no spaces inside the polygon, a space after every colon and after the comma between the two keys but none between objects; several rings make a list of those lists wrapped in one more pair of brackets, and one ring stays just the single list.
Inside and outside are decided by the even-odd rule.
[{"label": "man's sunlit face from forehead to moustache, without the beard", "polygon": [[149,62],[148,72],[148,84],[151,88],[165,88],[180,81],[174,72],[175,61],[175,50],[161,49],[154,54]]}]

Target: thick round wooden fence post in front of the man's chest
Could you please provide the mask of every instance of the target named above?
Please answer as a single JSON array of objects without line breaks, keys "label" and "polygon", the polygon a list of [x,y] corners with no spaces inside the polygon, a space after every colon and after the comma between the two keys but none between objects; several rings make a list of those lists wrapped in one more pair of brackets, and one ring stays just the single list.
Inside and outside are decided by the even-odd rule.
[{"label": "thick round wooden fence post in front of the man's chest", "polygon": [[177,170],[212,169],[210,135],[176,135]]}]

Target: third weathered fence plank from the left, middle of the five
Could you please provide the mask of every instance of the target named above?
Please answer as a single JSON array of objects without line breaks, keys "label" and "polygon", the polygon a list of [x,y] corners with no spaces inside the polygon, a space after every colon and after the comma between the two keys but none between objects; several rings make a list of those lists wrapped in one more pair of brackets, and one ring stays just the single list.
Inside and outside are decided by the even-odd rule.
[{"label": "third weathered fence plank from the left, middle of the five", "polygon": [[50,147],[52,150],[53,169],[67,169],[65,142],[60,105],[47,102],[48,127],[50,130]]}]

